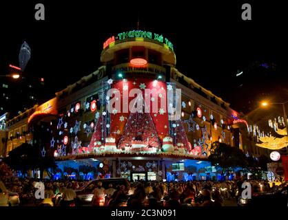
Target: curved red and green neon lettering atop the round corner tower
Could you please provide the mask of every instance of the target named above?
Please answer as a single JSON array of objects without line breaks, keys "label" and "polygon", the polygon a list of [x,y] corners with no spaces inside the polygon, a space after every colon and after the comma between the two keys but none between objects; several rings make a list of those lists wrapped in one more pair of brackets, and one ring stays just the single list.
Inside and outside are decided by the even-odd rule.
[{"label": "curved red and green neon lettering atop the round corner tower", "polygon": [[131,30],[129,32],[121,32],[117,34],[117,36],[112,36],[110,39],[105,41],[103,48],[105,49],[110,43],[114,43],[115,41],[122,41],[125,39],[132,39],[132,38],[143,38],[143,39],[152,39],[158,41],[159,43],[163,43],[165,47],[173,50],[173,44],[167,39],[162,36],[162,34],[156,34],[152,32],[146,32],[142,30]]}]

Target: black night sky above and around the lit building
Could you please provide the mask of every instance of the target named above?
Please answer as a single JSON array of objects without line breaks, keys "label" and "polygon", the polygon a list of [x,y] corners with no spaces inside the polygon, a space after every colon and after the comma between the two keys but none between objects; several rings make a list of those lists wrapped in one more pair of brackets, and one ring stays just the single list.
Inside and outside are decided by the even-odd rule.
[{"label": "black night sky above and around the lit building", "polygon": [[140,30],[163,34],[174,44],[180,72],[237,111],[249,112],[263,98],[288,100],[288,13],[282,3],[251,3],[252,21],[243,21],[241,5],[249,1],[42,1],[45,21],[36,21],[34,5],[40,2],[1,1],[0,74],[10,63],[19,65],[26,41],[32,52],[25,74],[44,77],[51,98],[94,72],[103,42],[136,30],[139,19]]}]

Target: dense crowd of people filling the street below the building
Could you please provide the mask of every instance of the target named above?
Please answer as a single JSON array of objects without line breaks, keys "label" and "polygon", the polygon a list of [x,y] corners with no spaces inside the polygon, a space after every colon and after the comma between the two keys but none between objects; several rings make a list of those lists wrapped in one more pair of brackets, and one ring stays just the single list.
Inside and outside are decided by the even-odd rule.
[{"label": "dense crowd of people filling the street below the building", "polygon": [[[1,169],[5,170],[5,165]],[[1,181],[6,188],[17,192],[20,205],[33,206],[43,203],[35,198],[39,179],[19,179],[11,173],[1,175]],[[238,181],[137,181],[130,186],[113,186],[110,184],[103,188],[101,180],[93,186],[94,198],[104,197],[109,199],[106,206],[223,206],[225,199],[238,199],[243,188],[244,179]],[[76,199],[76,190],[86,184],[86,181],[74,180],[43,180],[45,185],[45,199],[50,199],[53,206],[70,206]],[[269,190],[268,181],[254,181],[252,192]],[[61,202],[57,201],[61,195]],[[45,201],[44,199],[44,201]],[[91,205],[94,205],[94,199]]]}]

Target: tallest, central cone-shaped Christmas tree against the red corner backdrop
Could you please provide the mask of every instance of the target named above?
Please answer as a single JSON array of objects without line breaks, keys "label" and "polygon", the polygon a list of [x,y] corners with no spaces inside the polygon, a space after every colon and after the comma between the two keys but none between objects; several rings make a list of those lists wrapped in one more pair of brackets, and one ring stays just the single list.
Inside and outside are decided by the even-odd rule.
[{"label": "tallest, central cone-shaped Christmas tree against the red corner backdrop", "polygon": [[[124,133],[119,141],[119,147],[132,146],[132,141],[145,142],[148,147],[161,148],[155,124],[150,113],[145,112],[145,101],[142,96],[142,112],[130,113],[125,124]],[[135,102],[136,104],[136,102]],[[135,107],[134,104],[134,107]]]}]

